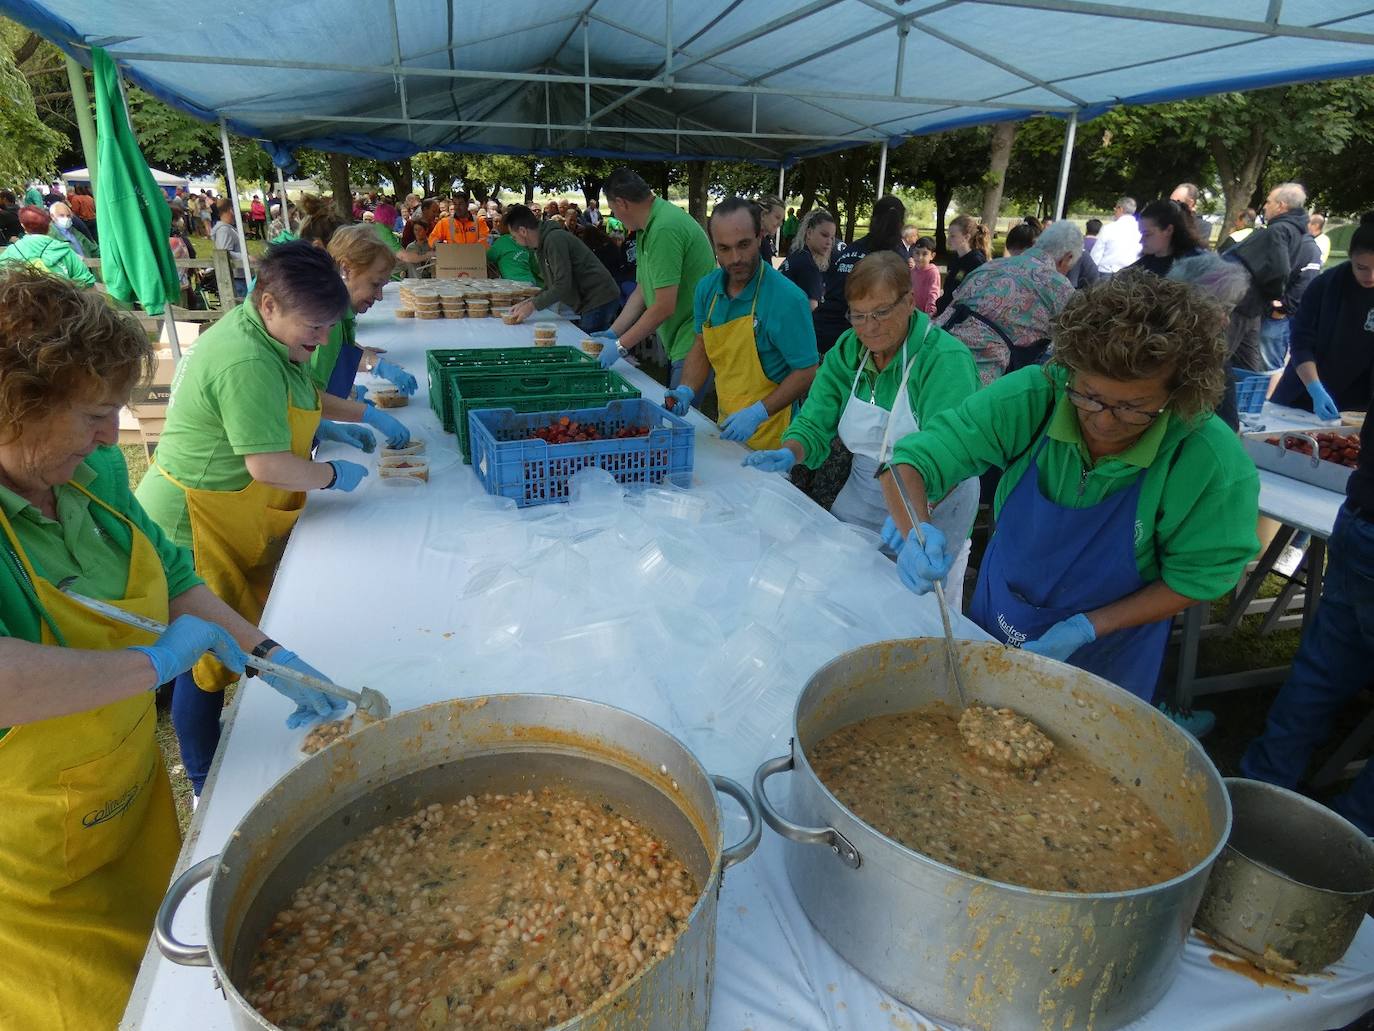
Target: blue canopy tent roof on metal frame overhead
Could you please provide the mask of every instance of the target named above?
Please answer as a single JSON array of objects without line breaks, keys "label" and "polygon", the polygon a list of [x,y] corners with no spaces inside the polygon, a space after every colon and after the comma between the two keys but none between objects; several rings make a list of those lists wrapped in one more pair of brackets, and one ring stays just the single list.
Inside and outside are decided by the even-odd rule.
[{"label": "blue canopy tent roof on metal frame overhead", "polygon": [[[1374,71],[1369,0],[0,0],[81,63],[262,140],[798,158]],[[1068,164],[1061,176],[1059,202]]]}]

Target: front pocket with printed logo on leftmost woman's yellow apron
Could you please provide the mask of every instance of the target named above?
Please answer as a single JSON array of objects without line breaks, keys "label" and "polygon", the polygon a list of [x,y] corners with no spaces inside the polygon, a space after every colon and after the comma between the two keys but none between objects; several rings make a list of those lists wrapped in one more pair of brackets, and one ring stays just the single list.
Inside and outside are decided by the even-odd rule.
[{"label": "front pocket with printed logo on leftmost woman's yellow apron", "polygon": [[133,730],[110,752],[58,775],[66,795],[65,861],[70,881],[124,855],[143,828],[158,753],[151,696]]}]

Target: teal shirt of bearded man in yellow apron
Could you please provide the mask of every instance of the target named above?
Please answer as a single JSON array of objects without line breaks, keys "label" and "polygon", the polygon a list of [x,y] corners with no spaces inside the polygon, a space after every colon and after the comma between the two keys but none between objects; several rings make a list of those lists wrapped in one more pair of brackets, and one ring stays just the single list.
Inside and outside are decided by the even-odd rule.
[{"label": "teal shirt of bearded man in yellow apron", "polygon": [[[754,291],[758,305],[754,307]],[[712,304],[714,302],[714,308]],[[811,320],[807,294],[778,269],[764,261],[739,297],[725,293],[725,269],[717,268],[701,278],[692,298],[694,337],[706,324],[723,326],[731,319],[743,319],[754,312],[754,344],[764,375],[775,384],[798,368],[811,368],[820,362],[816,352],[816,324]]]}]

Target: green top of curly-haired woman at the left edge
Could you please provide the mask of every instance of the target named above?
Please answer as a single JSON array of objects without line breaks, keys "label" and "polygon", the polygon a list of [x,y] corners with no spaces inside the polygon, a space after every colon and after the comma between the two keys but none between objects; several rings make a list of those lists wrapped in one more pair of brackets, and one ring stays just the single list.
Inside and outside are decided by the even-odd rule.
[{"label": "green top of curly-haired woman at the left edge", "polygon": [[[173,544],[135,500],[120,448],[93,451],[77,466],[71,483],[85,487],[148,537],[168,579],[169,599],[202,583],[191,553]],[[92,598],[122,598],[129,592],[132,537],[128,524],[69,484],[58,487],[55,494],[58,518],[54,521],[19,495],[0,488],[0,511],[34,570],[54,584],[74,576],[73,587]],[[0,536],[0,636],[38,643],[45,619],[8,539]],[[60,641],[60,634],[56,638]],[[3,735],[4,729],[0,729]]]}]

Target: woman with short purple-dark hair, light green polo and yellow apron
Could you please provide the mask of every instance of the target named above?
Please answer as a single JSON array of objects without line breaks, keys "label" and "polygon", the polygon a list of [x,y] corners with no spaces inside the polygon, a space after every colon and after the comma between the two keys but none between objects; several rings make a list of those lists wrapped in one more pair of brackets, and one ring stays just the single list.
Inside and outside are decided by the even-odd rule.
[{"label": "woman with short purple-dark hair, light green polo and yellow apron", "polygon": [[[276,564],[306,491],[352,491],[356,462],[313,462],[322,415],[361,418],[397,444],[405,428],[375,408],[320,395],[311,353],[348,309],[334,260],[304,241],[268,249],[257,289],[212,326],[180,363],[168,421],[137,499],[195,572],[250,623],[262,616]],[[393,426],[396,429],[393,429]],[[214,660],[176,680],[172,723],[199,796],[220,741],[224,689],[236,674]],[[312,719],[294,713],[290,726]]]}]

